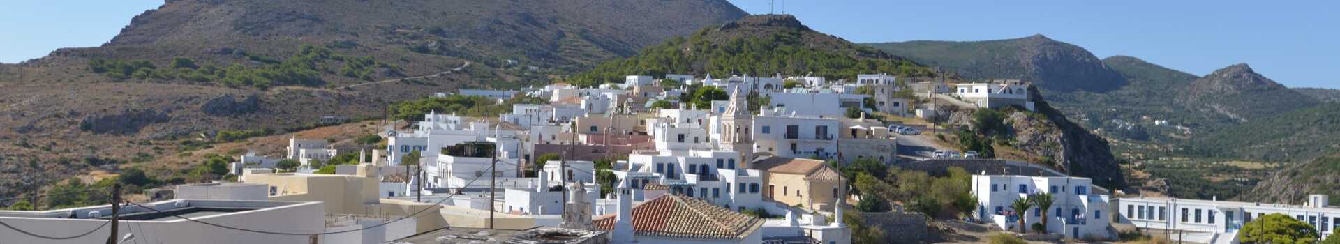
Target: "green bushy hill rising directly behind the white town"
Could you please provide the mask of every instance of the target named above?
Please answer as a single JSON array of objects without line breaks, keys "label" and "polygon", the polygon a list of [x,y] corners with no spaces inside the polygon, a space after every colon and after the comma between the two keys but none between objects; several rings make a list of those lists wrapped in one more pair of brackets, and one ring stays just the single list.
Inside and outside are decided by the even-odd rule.
[{"label": "green bushy hill rising directly behind the white town", "polygon": [[855,79],[856,74],[887,72],[930,76],[933,71],[909,59],[858,46],[805,27],[791,15],[753,15],[693,35],[673,38],[638,55],[602,63],[574,76],[578,84],[622,82],[628,74],[722,75],[808,74]]}]

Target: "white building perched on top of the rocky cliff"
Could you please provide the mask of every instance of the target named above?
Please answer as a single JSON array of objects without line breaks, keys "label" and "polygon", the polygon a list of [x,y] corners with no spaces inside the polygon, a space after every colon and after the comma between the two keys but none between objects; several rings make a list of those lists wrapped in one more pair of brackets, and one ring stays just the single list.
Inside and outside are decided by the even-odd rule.
[{"label": "white building perched on top of the rocky cliff", "polygon": [[977,105],[977,107],[1000,109],[1020,106],[1029,111],[1033,102],[1028,101],[1028,84],[1018,80],[996,80],[989,83],[957,83],[954,84],[959,99]]}]

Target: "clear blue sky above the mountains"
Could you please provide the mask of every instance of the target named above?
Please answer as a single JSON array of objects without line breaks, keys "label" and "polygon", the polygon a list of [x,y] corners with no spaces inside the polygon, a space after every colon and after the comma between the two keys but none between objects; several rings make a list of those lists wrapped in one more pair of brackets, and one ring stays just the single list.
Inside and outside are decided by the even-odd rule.
[{"label": "clear blue sky above the mountains", "polygon": [[[768,13],[768,0],[730,0]],[[777,0],[773,12],[852,42],[994,40],[1043,34],[1099,58],[1130,55],[1205,75],[1249,63],[1290,87],[1340,88],[1340,1]],[[8,0],[0,63],[111,40],[162,0]]]}]

